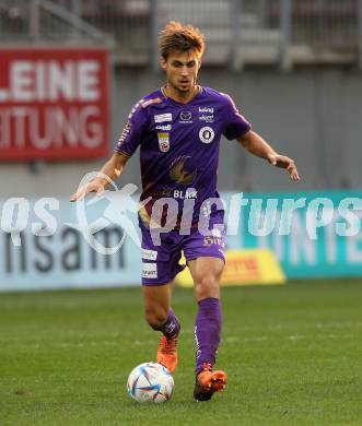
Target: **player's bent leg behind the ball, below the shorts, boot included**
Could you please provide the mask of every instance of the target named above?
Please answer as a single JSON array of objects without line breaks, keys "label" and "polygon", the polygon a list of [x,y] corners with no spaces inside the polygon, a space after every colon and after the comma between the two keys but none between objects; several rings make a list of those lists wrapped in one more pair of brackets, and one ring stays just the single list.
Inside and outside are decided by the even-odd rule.
[{"label": "player's bent leg behind the ball, below the shorts, boot included", "polygon": [[177,366],[177,339],[180,324],[171,308],[172,283],[143,285],[144,316],[153,330],[162,335],[157,348],[157,363],[173,372]]}]

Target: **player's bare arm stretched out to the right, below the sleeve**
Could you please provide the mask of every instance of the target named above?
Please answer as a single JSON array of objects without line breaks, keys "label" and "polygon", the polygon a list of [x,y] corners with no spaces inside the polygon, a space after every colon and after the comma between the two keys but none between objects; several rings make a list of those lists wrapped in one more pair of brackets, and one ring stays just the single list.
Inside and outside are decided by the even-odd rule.
[{"label": "player's bare arm stretched out to the right, below the sleeve", "polygon": [[300,180],[294,159],[278,154],[258,133],[249,130],[236,140],[249,153],[267,159],[273,166],[287,168],[292,180]]}]

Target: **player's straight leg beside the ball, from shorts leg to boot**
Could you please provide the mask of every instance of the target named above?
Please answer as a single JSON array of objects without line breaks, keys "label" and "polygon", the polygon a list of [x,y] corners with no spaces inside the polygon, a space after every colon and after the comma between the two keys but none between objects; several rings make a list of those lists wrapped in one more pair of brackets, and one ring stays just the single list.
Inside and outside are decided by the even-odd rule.
[{"label": "player's straight leg beside the ball, from shorts leg to boot", "polygon": [[[200,221],[203,216],[200,216]],[[200,225],[203,225],[200,227]],[[196,384],[194,397],[198,401],[210,400],[226,384],[226,375],[213,370],[221,334],[220,280],[225,263],[225,227],[223,212],[209,216],[208,226],[191,228],[184,241],[184,252],[195,284],[198,312],[195,323]],[[205,230],[207,229],[207,233]]]}]

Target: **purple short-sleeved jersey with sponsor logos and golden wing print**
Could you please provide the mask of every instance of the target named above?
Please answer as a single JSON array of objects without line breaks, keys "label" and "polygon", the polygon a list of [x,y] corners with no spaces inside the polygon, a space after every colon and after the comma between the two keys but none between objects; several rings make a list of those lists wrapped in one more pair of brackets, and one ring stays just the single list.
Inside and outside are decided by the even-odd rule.
[{"label": "purple short-sleeved jersey with sponsor logos and golden wing print", "polygon": [[145,205],[147,216],[157,199],[176,200],[178,213],[187,199],[195,200],[192,222],[197,222],[202,202],[219,198],[221,137],[232,140],[249,130],[249,122],[223,93],[199,87],[189,103],[180,104],[161,88],[135,105],[116,151],[131,156],[140,145],[141,200],[152,198]]}]

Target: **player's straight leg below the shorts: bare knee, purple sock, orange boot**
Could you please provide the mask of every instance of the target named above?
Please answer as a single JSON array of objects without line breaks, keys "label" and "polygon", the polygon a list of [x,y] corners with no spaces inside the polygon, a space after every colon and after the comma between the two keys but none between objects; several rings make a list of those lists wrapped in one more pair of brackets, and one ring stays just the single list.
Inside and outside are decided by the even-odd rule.
[{"label": "player's straight leg below the shorts: bare knee, purple sock, orange boot", "polygon": [[223,260],[200,257],[188,262],[195,284],[198,313],[195,324],[196,386],[194,397],[198,401],[210,400],[215,391],[224,389],[226,375],[213,370],[221,339],[220,279]]}]

